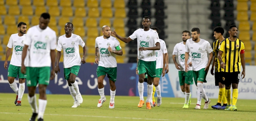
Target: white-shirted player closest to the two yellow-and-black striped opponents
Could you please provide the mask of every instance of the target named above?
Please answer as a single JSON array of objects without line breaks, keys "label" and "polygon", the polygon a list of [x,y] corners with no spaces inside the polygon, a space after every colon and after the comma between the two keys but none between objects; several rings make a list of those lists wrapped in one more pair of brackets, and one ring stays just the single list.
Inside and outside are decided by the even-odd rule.
[{"label": "white-shirted player closest to the two yellow-and-black striped opponents", "polygon": [[[189,54],[191,54],[193,78],[197,86],[197,103],[195,109],[200,109],[202,98],[205,101],[204,109],[208,109],[211,100],[207,98],[205,90],[203,89],[203,82],[207,82],[206,75],[213,56],[212,48],[208,41],[199,38],[199,28],[192,28],[191,34],[192,39],[188,39],[186,42],[185,71],[188,72],[188,58]],[[209,59],[207,58],[207,54],[210,55]]]}]

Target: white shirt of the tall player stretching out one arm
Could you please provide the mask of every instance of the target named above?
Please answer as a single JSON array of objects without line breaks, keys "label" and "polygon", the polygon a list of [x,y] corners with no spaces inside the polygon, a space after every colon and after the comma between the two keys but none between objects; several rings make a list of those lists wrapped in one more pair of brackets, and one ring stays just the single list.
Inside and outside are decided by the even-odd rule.
[{"label": "white shirt of the tall player stretching out one arm", "polygon": [[[144,29],[139,28],[129,38],[132,40],[138,38],[138,50],[140,47],[155,47],[157,42],[160,43],[157,32],[152,29],[144,31]],[[154,50],[138,51],[138,57],[143,61],[157,61]]]}]

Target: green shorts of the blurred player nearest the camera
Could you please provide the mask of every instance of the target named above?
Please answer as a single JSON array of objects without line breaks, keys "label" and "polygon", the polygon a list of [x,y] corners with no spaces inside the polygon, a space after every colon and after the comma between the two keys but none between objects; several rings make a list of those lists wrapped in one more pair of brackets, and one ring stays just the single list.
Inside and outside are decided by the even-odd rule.
[{"label": "green shorts of the blurred player nearest the camera", "polygon": [[27,69],[27,86],[49,85],[50,67],[26,67]]}]

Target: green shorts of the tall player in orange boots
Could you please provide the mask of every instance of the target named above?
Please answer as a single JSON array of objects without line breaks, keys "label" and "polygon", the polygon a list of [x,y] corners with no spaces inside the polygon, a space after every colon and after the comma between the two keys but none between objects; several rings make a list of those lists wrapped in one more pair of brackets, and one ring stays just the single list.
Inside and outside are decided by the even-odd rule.
[{"label": "green shorts of the tall player in orange boots", "polygon": [[156,63],[157,61],[138,61],[138,74],[147,73],[149,77],[155,78],[156,77]]}]

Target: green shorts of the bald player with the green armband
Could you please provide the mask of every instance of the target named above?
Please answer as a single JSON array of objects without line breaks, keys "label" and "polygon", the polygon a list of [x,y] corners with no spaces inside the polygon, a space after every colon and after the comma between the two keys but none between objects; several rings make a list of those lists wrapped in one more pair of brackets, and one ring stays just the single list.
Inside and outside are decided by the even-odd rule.
[{"label": "green shorts of the bald player with the green armband", "polygon": [[98,66],[96,74],[97,74],[97,77],[108,74],[108,78],[111,81],[115,82],[116,76],[117,76],[117,67],[106,68],[106,67]]}]

